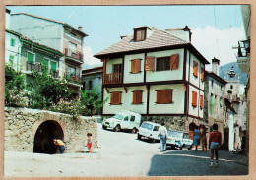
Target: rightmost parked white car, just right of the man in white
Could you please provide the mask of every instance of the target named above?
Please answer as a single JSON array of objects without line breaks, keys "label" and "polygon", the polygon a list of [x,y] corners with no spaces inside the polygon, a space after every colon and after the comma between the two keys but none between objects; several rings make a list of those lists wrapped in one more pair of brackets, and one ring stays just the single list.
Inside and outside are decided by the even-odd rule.
[{"label": "rightmost parked white car, just right of the man in white", "polygon": [[182,150],[183,148],[191,150],[192,143],[193,141],[190,140],[188,133],[177,130],[168,130],[167,146],[178,148],[179,150]]}]

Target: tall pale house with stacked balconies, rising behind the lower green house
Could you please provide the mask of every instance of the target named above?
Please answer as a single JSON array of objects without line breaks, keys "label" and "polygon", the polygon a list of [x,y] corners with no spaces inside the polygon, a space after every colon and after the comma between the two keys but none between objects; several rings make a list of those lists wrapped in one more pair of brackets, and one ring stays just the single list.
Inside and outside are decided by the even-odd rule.
[{"label": "tall pale house with stacked balconies, rising behind the lower green house", "polygon": [[59,62],[59,75],[69,77],[69,89],[73,91],[74,96],[79,96],[79,90],[83,87],[83,44],[84,37],[87,36],[81,26],[76,29],[62,22],[18,13],[11,14],[10,29],[27,36],[33,42],[65,54]]}]

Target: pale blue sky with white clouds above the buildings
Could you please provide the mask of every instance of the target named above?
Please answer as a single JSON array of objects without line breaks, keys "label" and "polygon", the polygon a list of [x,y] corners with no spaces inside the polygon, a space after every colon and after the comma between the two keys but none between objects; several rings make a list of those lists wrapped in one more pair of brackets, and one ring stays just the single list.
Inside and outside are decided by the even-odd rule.
[{"label": "pale blue sky with white clouds above the buildings", "polygon": [[[224,65],[236,61],[239,40],[245,39],[239,5],[162,6],[7,6],[11,13],[29,13],[74,28],[80,25],[84,39],[84,68],[102,65],[94,54],[133,34],[133,28],[148,26],[161,30],[188,26],[192,44],[211,63],[215,57]],[[211,70],[211,65],[206,67]]]}]

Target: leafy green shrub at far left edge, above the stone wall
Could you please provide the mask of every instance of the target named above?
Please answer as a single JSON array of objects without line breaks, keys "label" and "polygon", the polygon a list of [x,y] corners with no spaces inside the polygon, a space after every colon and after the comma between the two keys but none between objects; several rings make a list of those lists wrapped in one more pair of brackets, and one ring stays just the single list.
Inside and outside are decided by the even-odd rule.
[{"label": "leafy green shrub at far left edge, above the stone wall", "polygon": [[5,105],[26,107],[28,99],[25,95],[25,75],[16,72],[12,65],[5,64]]}]

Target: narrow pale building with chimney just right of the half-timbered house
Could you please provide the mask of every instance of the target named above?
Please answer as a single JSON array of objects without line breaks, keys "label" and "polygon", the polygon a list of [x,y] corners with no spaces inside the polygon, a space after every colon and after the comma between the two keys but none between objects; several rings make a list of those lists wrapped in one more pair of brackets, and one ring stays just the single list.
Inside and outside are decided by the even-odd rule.
[{"label": "narrow pale building with chimney just right of the half-timbered house", "polygon": [[[228,127],[225,107],[225,85],[227,82],[219,76],[219,59],[212,59],[212,72],[205,73],[204,94],[204,124],[208,128],[208,137],[213,124],[218,124],[219,131],[224,135],[224,128]],[[223,136],[224,140],[224,136]]]}]

